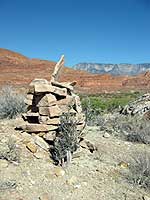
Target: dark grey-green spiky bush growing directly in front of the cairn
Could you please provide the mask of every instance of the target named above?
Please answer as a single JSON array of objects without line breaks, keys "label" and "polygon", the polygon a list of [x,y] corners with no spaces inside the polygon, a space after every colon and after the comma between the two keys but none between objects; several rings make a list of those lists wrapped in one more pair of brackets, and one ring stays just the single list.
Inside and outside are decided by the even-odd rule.
[{"label": "dark grey-green spiky bush growing directly in front of the cairn", "polygon": [[61,117],[58,136],[54,140],[54,148],[51,150],[52,158],[56,164],[64,166],[71,161],[71,154],[79,147],[80,132],[77,131],[77,122],[70,113]]}]

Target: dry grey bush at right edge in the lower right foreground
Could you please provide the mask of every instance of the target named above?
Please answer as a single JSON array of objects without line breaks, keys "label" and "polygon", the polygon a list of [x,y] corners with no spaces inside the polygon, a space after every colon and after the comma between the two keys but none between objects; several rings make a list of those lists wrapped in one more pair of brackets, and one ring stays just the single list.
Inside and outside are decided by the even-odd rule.
[{"label": "dry grey bush at right edge in the lower right foreground", "polygon": [[143,152],[135,154],[129,165],[129,173],[126,174],[127,180],[145,189],[150,189],[150,154]]}]

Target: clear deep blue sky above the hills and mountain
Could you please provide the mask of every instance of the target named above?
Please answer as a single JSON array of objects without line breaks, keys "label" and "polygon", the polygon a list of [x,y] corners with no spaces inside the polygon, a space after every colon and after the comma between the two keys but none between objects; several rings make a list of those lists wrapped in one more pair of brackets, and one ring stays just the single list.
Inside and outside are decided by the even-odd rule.
[{"label": "clear deep blue sky above the hills and mountain", "polygon": [[68,66],[150,62],[150,0],[0,0],[0,47]]}]

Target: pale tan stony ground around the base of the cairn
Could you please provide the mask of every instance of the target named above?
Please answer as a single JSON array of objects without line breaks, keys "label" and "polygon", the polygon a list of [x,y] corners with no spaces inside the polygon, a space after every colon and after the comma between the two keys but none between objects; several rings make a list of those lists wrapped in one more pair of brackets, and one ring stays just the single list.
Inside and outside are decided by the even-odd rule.
[{"label": "pale tan stony ground around the base of the cairn", "polygon": [[97,150],[91,153],[82,148],[72,163],[62,169],[53,165],[49,153],[41,147],[27,148],[32,136],[15,130],[22,123],[19,118],[0,121],[0,154],[12,147],[11,154],[0,159],[0,200],[150,198],[150,193],[126,181],[123,174],[128,166],[120,164],[130,164],[132,153],[148,148],[146,145],[117,139],[104,134],[99,127],[86,127],[86,138]]}]

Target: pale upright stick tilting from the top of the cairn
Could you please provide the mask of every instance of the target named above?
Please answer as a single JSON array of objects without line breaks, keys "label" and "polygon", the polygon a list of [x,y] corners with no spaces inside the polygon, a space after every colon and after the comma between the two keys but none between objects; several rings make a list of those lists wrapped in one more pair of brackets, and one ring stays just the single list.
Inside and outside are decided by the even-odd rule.
[{"label": "pale upright stick tilting from the top of the cairn", "polygon": [[57,81],[57,79],[59,77],[59,74],[60,74],[60,70],[64,66],[64,62],[65,62],[64,55],[62,55],[61,58],[60,58],[60,60],[55,65],[54,72],[53,72],[52,78],[51,78],[52,82],[53,81]]}]

